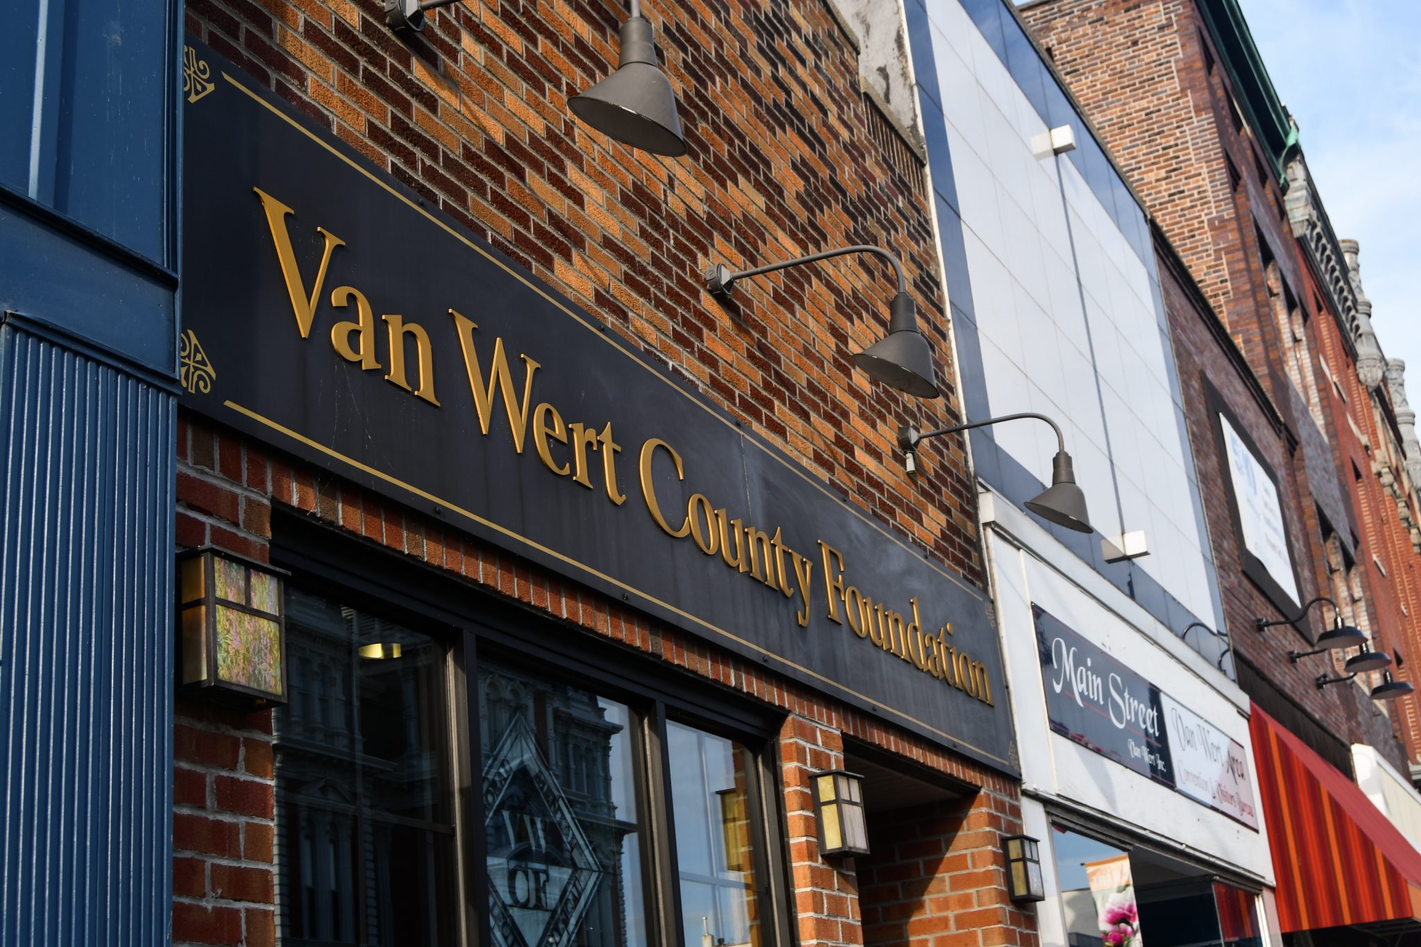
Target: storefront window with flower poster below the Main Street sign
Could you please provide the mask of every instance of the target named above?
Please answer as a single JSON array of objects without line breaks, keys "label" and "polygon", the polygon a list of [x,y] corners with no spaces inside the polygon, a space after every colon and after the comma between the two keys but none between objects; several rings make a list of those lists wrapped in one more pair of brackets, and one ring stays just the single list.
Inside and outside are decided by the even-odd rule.
[{"label": "storefront window with flower poster below the Main Street sign", "polygon": [[1070,947],[1260,947],[1258,897],[1162,852],[1052,833]]}]

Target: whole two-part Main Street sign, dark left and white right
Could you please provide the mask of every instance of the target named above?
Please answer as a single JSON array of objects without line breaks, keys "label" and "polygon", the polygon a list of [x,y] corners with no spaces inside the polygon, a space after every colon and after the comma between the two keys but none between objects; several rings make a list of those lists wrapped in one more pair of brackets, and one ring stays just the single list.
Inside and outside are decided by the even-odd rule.
[{"label": "whole two-part Main Street sign, dark left and white right", "polygon": [[1053,733],[1258,829],[1243,745],[1032,605]]}]

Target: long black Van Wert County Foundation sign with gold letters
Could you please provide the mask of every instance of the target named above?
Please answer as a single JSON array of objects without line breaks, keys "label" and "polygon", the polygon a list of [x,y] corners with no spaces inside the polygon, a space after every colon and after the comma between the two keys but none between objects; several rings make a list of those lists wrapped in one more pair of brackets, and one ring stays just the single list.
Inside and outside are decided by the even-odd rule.
[{"label": "long black Van Wert County Foundation sign with gold letters", "polygon": [[976,589],[192,45],[189,409],[1015,771]]}]

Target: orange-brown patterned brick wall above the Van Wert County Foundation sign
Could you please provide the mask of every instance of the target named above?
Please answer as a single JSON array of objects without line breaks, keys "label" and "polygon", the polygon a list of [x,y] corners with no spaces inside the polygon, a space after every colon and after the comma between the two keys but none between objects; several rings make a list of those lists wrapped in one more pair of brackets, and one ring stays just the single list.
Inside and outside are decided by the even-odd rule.
[{"label": "orange-brown patterned brick wall above the Van Wert County Foundation sign", "polygon": [[[824,0],[644,7],[689,155],[634,152],[567,99],[612,71],[622,3],[463,0],[398,40],[378,0],[192,0],[188,30],[432,206],[671,363],[845,498],[980,584],[965,463],[915,484],[894,443],[958,416],[922,169],[858,88]],[[887,328],[877,257],[703,290],[756,266],[878,244],[907,267],[946,398],[871,382],[850,356]]]}]

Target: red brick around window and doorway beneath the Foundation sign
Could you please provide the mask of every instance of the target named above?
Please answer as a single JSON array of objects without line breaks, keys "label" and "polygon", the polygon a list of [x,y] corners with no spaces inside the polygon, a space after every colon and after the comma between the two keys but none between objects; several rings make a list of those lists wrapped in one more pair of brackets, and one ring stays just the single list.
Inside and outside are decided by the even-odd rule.
[{"label": "red brick around window and doorway beneath the Foundation sign", "polygon": [[[699,674],[783,711],[786,846],[803,947],[863,943],[854,863],[831,865],[820,858],[809,792],[813,772],[843,762],[844,735],[982,787],[971,802],[972,814],[965,816],[965,833],[952,842],[953,850],[976,852],[971,856],[973,872],[953,875],[945,883],[953,890],[1003,883],[993,839],[1020,832],[1015,779],[186,412],[179,413],[178,470],[180,545],[212,542],[269,561],[271,510],[301,513],[352,540],[372,541],[442,568],[453,581],[517,598],[576,632],[611,639],[665,662],[668,669]],[[271,713],[242,716],[188,701],[179,701],[178,710],[175,944],[267,944],[273,923]],[[953,825],[945,821],[942,832]],[[988,850],[996,853],[989,856]],[[996,859],[992,867],[989,859]],[[944,875],[958,870],[955,862],[924,862],[922,867]],[[1003,899],[1002,890],[976,890],[971,919],[961,924],[972,923],[971,936],[982,940],[944,943],[1033,943],[1034,916],[1009,912]]]}]

